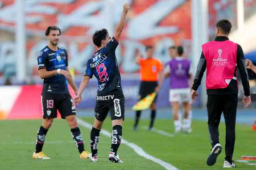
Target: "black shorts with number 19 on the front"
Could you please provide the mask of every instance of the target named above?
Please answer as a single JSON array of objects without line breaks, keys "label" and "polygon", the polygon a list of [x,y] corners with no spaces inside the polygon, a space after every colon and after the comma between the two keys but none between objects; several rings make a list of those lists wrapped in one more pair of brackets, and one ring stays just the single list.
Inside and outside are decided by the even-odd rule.
[{"label": "black shorts with number 19 on the front", "polygon": [[69,94],[42,93],[41,102],[43,108],[43,119],[56,118],[57,110],[61,118],[69,115],[76,115],[76,107]]}]

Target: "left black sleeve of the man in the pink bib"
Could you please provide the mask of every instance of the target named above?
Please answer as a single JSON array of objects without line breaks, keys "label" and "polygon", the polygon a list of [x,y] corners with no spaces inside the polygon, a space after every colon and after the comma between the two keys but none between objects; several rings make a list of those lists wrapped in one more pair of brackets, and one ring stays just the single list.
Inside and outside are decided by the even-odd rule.
[{"label": "left black sleeve of the man in the pink bib", "polygon": [[205,69],[206,69],[206,59],[204,57],[204,53],[202,52],[200,60],[197,64],[197,72],[195,75],[194,84],[192,86],[193,90],[197,90],[198,87],[200,86]]}]

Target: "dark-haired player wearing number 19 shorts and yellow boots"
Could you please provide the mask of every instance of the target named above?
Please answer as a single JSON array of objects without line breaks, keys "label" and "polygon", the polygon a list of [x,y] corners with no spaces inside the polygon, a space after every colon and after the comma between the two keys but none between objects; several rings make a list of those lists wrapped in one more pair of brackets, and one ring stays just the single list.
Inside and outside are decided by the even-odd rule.
[{"label": "dark-haired player wearing number 19 shorts and yellow boots", "polygon": [[57,110],[71,128],[71,135],[80,152],[80,158],[88,158],[90,153],[85,152],[83,147],[83,138],[76,122],[76,108],[69,94],[67,83],[75,93],[78,90],[69,72],[67,51],[58,46],[61,30],[59,27],[49,26],[45,35],[48,38],[48,45],[39,52],[37,58],[38,73],[41,79],[44,79],[41,95],[43,124],[37,133],[33,159],[50,159],[42,152],[42,148],[46,133],[53,119],[57,117]]}]

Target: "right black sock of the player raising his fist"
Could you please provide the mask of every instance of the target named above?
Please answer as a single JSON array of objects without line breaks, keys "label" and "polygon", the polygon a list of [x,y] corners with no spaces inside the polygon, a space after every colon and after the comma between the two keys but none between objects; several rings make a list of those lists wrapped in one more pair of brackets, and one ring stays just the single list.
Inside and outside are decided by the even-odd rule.
[{"label": "right black sock of the player raising his fist", "polygon": [[121,144],[121,139],[122,139],[122,126],[120,125],[113,126],[111,139],[112,139],[111,152],[114,152],[115,155],[117,155],[117,150]]}]

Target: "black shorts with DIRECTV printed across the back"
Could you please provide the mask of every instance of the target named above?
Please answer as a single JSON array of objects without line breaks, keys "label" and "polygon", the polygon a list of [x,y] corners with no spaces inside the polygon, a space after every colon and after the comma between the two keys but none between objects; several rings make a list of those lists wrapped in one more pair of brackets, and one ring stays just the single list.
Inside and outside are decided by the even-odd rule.
[{"label": "black shorts with DIRECTV printed across the back", "polygon": [[122,90],[112,90],[104,95],[97,95],[95,118],[104,121],[110,112],[111,120],[124,120],[124,94]]}]

